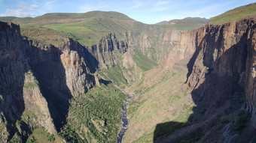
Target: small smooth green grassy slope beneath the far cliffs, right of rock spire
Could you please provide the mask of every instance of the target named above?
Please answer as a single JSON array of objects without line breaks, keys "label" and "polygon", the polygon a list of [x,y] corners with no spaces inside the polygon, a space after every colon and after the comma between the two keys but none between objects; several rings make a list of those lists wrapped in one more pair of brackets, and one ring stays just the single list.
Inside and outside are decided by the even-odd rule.
[{"label": "small smooth green grassy slope beneath the far cliffs, right of rock spire", "polygon": [[142,69],[142,71],[147,71],[153,67],[157,67],[157,63],[151,61],[146,55],[139,51],[139,49],[134,49],[133,51],[136,53],[133,55],[133,60],[136,62],[136,65]]}]

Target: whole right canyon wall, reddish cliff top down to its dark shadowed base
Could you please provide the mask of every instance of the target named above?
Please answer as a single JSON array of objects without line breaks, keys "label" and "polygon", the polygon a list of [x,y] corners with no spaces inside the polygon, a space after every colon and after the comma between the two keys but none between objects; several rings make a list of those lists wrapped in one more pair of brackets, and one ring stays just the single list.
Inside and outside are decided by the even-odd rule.
[{"label": "whole right canyon wall, reddish cliff top down to its dark shadowed base", "polygon": [[[196,43],[188,47],[195,47],[196,51],[187,64],[187,85],[197,107],[190,115],[188,127],[162,139],[156,137],[156,142],[254,139],[255,28],[255,19],[243,19],[206,25],[197,31],[196,37],[190,38]],[[175,59],[174,55],[170,57]],[[164,129],[161,126],[155,133]]]}]

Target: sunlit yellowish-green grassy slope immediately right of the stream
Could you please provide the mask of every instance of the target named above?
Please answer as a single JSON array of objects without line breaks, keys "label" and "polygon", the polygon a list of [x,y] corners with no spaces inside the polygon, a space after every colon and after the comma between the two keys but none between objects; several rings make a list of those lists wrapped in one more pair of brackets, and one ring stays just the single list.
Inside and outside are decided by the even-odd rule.
[{"label": "sunlit yellowish-green grassy slope immediately right of the stream", "polygon": [[[189,125],[185,123],[193,113],[194,103],[179,89],[186,81],[186,74],[187,70],[161,73],[152,69],[133,83],[130,87],[133,98],[127,111],[132,126],[123,142],[153,142],[154,137],[169,135]],[[140,136],[136,139],[137,135]]]}]

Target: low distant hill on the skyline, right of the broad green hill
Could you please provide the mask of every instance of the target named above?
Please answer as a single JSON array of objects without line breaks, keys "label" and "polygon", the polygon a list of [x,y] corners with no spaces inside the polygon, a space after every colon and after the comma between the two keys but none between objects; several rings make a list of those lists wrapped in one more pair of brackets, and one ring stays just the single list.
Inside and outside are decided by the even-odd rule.
[{"label": "low distant hill on the skyline, right of the broad green hill", "polygon": [[158,22],[156,25],[169,25],[173,28],[187,28],[189,30],[200,28],[206,25],[210,19],[200,18],[200,17],[186,17],[184,19],[172,19],[170,21]]}]

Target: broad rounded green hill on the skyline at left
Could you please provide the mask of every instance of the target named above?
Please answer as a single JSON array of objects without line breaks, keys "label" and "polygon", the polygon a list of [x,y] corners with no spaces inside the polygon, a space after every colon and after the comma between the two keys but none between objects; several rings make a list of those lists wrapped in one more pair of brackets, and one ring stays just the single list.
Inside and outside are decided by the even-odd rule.
[{"label": "broad rounded green hill on the skyline at left", "polygon": [[[123,13],[113,11],[90,11],[87,13],[46,13],[35,18],[0,17],[1,21],[14,22],[22,28],[22,34],[36,40],[47,39],[55,34],[47,29],[66,34],[86,46],[92,46],[108,33],[142,30],[142,22],[137,22]],[[43,29],[44,28],[44,29]],[[47,28],[47,29],[46,29]],[[38,31],[40,30],[40,32]],[[32,32],[33,31],[33,32]],[[44,37],[37,37],[37,33]]]}]

